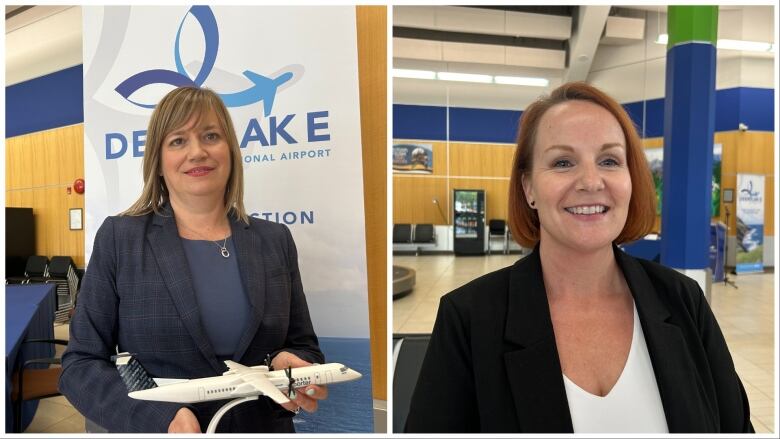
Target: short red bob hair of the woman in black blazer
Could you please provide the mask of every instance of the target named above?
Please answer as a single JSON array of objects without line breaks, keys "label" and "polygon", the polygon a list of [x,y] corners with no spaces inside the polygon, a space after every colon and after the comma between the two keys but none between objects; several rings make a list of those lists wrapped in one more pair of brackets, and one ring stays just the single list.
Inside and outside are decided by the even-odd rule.
[{"label": "short red bob hair of the woman in black blazer", "polygon": [[531,104],[520,118],[512,176],[509,181],[509,229],[523,247],[539,242],[539,215],[531,209],[523,190],[523,176],[530,177],[536,133],[542,116],[555,105],[567,101],[588,101],[609,111],[620,124],[626,137],[626,160],[631,175],[631,201],[628,217],[616,244],[635,241],[650,233],[655,222],[655,185],[647,164],[639,134],[623,106],[603,91],[584,82],[570,82],[553,90]]}]

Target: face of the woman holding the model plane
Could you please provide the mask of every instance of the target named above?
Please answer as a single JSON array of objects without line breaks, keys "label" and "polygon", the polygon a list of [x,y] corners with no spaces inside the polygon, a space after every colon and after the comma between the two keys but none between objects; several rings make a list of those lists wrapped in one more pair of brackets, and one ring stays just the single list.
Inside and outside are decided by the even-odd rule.
[{"label": "face of the woman holding the model plane", "polygon": [[211,197],[224,203],[230,176],[230,147],[214,110],[194,115],[165,136],[160,172],[171,201],[187,203]]}]

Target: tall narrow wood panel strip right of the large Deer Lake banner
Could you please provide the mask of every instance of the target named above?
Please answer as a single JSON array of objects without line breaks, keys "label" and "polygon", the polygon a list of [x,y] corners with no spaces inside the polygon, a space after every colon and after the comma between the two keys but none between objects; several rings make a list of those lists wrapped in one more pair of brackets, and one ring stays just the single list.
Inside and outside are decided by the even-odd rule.
[{"label": "tall narrow wood panel strip right of the large Deer Lake banner", "polygon": [[387,8],[357,6],[371,377],[387,400]]}]

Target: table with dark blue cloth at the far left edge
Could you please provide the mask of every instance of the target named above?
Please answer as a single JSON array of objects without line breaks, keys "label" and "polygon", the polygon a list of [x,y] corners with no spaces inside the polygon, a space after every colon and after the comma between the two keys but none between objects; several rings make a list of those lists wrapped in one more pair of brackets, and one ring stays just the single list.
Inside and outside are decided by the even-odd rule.
[{"label": "table with dark blue cloth at the far left edge", "polygon": [[[5,430],[13,430],[11,379],[14,369],[24,360],[54,356],[54,346],[22,341],[54,338],[54,310],[57,306],[54,284],[6,285],[5,287]],[[22,406],[22,431],[30,424],[38,401]]]}]

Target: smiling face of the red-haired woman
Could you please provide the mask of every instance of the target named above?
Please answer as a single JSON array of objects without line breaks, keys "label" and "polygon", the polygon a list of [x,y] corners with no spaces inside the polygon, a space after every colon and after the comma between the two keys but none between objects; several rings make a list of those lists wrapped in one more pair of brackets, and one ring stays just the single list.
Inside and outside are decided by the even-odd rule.
[{"label": "smiling face of the red-haired woman", "polygon": [[585,252],[612,245],[631,200],[625,145],[617,119],[594,103],[567,101],[542,116],[523,177],[542,242]]}]

